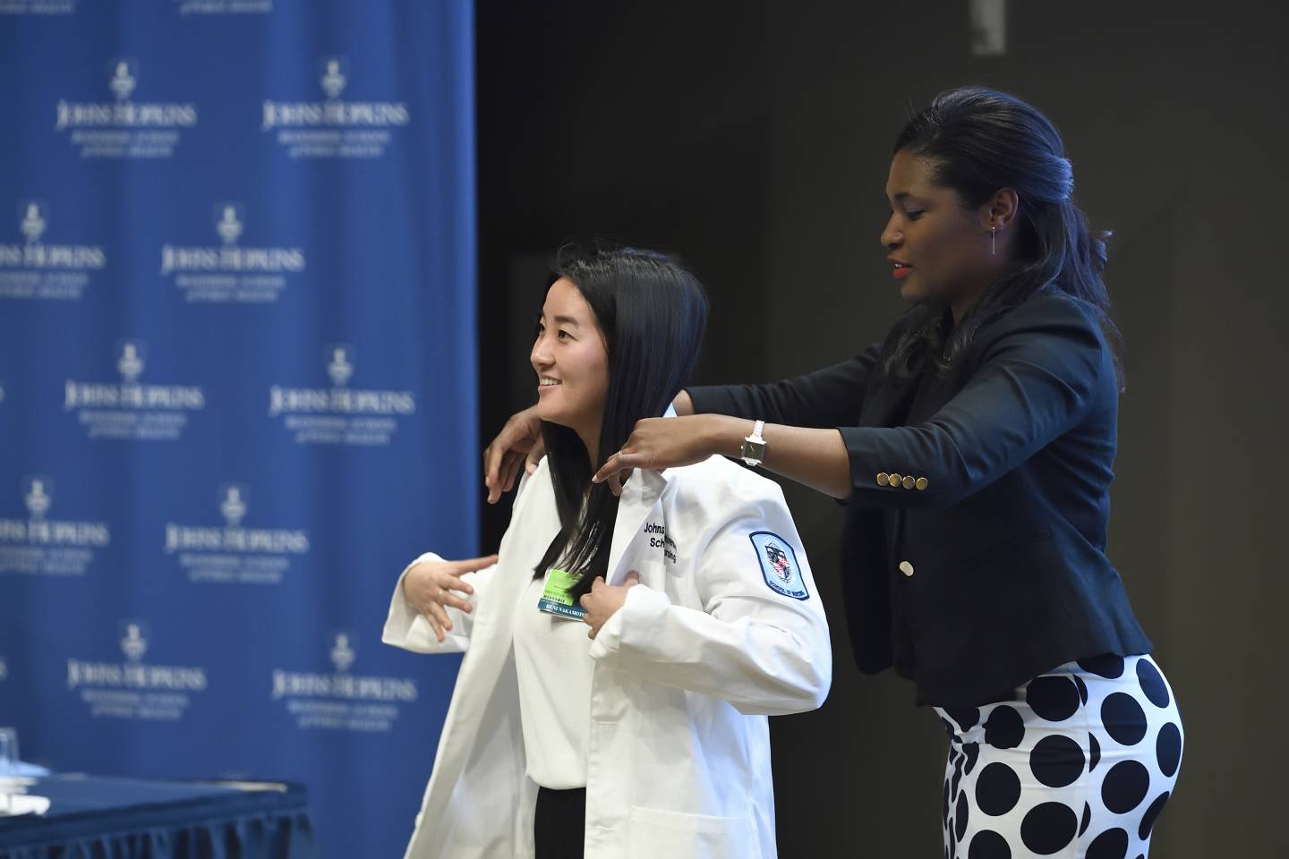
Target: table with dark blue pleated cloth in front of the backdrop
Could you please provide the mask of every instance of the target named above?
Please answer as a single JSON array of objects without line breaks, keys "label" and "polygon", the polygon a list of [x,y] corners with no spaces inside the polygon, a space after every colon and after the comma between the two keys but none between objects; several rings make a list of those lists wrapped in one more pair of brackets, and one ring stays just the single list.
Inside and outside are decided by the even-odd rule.
[{"label": "table with dark blue pleated cloth in front of the backdrop", "polygon": [[308,859],[298,784],[37,778],[44,815],[0,818],[0,859]]}]

